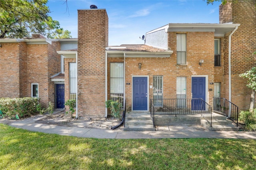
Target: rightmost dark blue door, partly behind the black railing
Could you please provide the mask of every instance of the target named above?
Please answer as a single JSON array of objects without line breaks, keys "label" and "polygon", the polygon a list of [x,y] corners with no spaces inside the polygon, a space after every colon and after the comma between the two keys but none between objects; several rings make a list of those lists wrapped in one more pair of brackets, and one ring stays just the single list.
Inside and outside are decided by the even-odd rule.
[{"label": "rightmost dark blue door, partly behind the black railing", "polygon": [[192,110],[205,110],[205,77],[192,77]]}]

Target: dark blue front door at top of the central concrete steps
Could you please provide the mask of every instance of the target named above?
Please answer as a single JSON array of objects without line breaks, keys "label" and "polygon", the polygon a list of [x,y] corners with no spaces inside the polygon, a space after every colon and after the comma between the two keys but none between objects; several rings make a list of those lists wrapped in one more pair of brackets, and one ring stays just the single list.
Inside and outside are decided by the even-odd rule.
[{"label": "dark blue front door at top of the central concrete steps", "polygon": [[148,78],[132,78],[132,109],[148,110]]}]

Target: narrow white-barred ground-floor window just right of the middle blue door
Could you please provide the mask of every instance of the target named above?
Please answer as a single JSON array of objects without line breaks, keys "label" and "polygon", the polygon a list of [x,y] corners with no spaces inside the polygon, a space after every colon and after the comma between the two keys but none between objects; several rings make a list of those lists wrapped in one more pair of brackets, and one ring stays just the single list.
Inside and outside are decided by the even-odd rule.
[{"label": "narrow white-barred ground-floor window just right of the middle blue door", "polygon": [[163,76],[153,76],[154,106],[163,106]]}]

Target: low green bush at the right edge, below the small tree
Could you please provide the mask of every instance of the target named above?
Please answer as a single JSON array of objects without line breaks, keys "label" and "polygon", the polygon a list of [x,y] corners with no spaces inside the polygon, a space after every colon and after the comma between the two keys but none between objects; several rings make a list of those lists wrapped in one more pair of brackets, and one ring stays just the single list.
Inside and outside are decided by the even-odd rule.
[{"label": "low green bush at the right edge, below the small tree", "polygon": [[244,122],[248,131],[256,131],[256,108],[252,112],[241,111],[238,120]]}]

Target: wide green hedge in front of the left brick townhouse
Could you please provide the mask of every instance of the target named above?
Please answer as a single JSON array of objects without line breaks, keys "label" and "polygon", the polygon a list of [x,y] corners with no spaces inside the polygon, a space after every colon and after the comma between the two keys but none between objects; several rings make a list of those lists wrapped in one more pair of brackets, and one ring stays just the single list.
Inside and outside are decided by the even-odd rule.
[{"label": "wide green hedge in front of the left brick townhouse", "polygon": [[26,117],[36,111],[38,103],[38,98],[0,98],[0,110],[6,117]]}]

